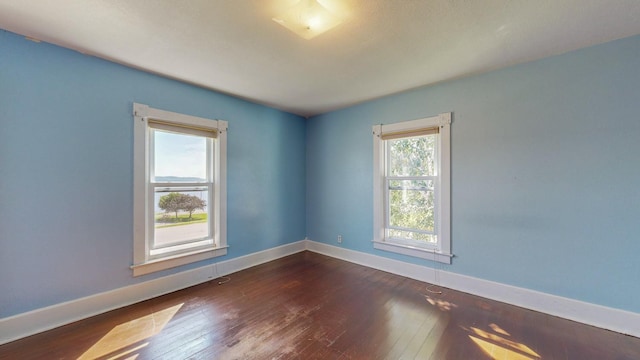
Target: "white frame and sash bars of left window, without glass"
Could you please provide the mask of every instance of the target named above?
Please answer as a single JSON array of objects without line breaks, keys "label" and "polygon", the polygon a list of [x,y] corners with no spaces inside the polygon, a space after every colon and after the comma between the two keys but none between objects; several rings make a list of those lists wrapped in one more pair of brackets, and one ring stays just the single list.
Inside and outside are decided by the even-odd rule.
[{"label": "white frame and sash bars of left window, without glass", "polygon": [[[140,276],[152,272],[165,270],[196,261],[223,256],[227,254],[227,127],[223,120],[211,120],[201,117],[185,115],[160,109],[154,109],[145,104],[133,104],[134,149],[133,149],[133,276]],[[151,123],[151,125],[150,125]],[[155,123],[161,124],[156,126]],[[200,241],[190,247],[183,245],[186,250],[152,255],[150,237],[154,231],[154,184],[152,177],[152,127],[168,127],[181,129],[184,133],[199,130],[217,133],[212,142],[213,183],[207,185],[192,184],[209,187],[209,200],[213,204],[210,209],[213,217],[210,219],[212,241]],[[198,130],[199,129],[199,130]],[[209,149],[208,149],[209,150]],[[210,153],[210,152],[208,152]],[[209,156],[209,155],[207,155]],[[174,185],[184,185],[182,183]],[[212,190],[212,191],[211,191]],[[212,201],[211,201],[212,200]],[[207,205],[209,206],[209,205]]]}]

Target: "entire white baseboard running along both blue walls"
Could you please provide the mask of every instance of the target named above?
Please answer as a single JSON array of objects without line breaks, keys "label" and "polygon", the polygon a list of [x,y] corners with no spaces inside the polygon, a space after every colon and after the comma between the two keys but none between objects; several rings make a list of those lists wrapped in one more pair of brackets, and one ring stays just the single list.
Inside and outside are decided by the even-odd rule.
[{"label": "entire white baseboard running along both blue walls", "polygon": [[[309,250],[408,278],[433,282],[434,269],[302,240],[217,264],[106,291],[0,319],[0,345],[113,309],[184,289],[300,251]],[[640,314],[438,270],[439,285],[523,308],[640,337]]]}]

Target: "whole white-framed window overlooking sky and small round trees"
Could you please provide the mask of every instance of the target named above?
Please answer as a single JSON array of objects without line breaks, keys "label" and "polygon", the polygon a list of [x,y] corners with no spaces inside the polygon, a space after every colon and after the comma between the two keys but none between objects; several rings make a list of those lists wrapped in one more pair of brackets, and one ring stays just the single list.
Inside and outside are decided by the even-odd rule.
[{"label": "whole white-framed window overlooking sky and small round trees", "polygon": [[134,276],[226,255],[227,122],[133,113]]}]

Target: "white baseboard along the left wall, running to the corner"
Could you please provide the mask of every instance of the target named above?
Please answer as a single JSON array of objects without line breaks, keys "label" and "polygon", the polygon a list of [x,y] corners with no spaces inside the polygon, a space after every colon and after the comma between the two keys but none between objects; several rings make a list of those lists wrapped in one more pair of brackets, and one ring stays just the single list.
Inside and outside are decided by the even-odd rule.
[{"label": "white baseboard along the left wall, running to the corner", "polygon": [[0,319],[0,345],[304,251],[306,244],[307,241],[298,241],[3,318]]}]

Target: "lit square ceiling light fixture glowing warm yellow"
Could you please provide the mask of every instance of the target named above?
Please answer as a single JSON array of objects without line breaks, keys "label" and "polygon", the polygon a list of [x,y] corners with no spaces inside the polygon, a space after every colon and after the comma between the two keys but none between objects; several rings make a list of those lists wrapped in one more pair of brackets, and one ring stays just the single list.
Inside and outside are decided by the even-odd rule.
[{"label": "lit square ceiling light fixture glowing warm yellow", "polygon": [[317,0],[301,0],[273,21],[304,39],[312,39],[342,22],[342,19]]}]

